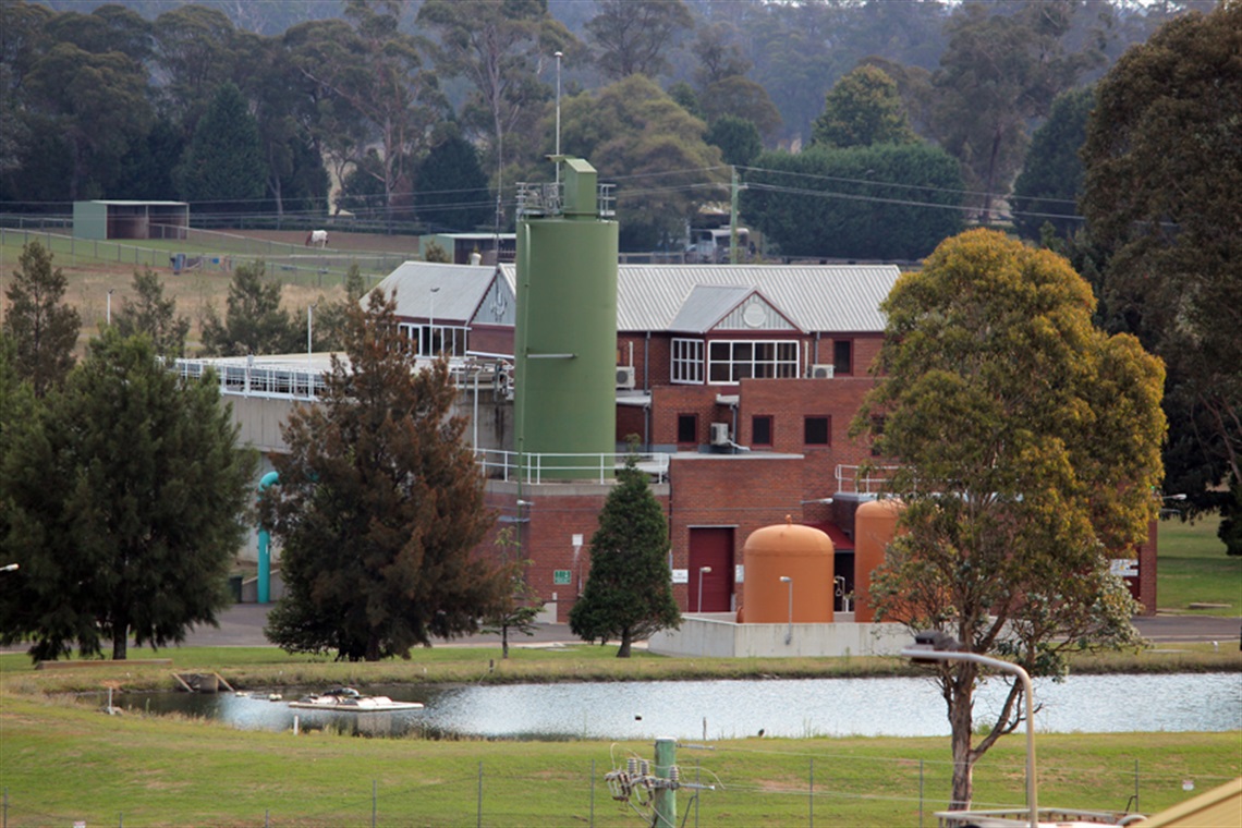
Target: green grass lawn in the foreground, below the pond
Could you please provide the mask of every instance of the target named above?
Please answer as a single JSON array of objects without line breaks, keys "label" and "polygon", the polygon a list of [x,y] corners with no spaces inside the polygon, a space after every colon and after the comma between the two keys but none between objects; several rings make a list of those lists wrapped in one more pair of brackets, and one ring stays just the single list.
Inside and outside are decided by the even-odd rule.
[{"label": "green grass lawn in the foreground, below the pond", "polygon": [[[106,716],[71,698],[5,694],[6,826],[632,826],[604,775],[650,742],[361,739],[246,732],[201,720]],[[929,715],[932,715],[929,713]],[[681,746],[682,778],[717,786],[686,824],[934,824],[946,739],[743,739]],[[1148,813],[1242,773],[1235,734],[1071,734],[1037,740],[1040,801]],[[1023,741],[976,766],[975,807],[1020,807]],[[68,772],[66,772],[68,771]],[[374,798],[373,798],[374,794]]]}]

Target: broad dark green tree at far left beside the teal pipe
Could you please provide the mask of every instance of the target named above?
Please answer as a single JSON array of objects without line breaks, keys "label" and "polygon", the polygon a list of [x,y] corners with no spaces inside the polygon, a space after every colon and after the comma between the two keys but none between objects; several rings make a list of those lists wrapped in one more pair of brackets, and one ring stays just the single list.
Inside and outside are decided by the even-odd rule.
[{"label": "broad dark green tree at far left beside the teal pipe", "polygon": [[[11,436],[7,433],[12,428]],[[145,336],[106,329],[37,415],[5,423],[0,641],[123,659],[184,641],[229,602],[255,457],[214,379],[181,380]]]}]

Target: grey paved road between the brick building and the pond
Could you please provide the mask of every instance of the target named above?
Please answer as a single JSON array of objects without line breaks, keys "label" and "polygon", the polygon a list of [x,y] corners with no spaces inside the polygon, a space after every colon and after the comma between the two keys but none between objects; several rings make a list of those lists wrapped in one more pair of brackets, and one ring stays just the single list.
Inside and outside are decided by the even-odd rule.
[{"label": "grey paved road between the brick building and the pond", "polygon": [[[196,647],[229,647],[268,644],[263,638],[263,624],[271,605],[238,603],[220,616],[220,628],[197,627],[186,639],[186,644]],[[1148,639],[1167,646],[1179,642],[1220,642],[1222,647],[1242,646],[1242,618],[1215,616],[1154,616],[1134,619],[1134,626]],[[499,643],[498,634],[469,636],[455,639],[453,644],[493,644]],[[510,644],[549,643],[578,641],[569,632],[569,624],[539,624],[535,634],[510,636]]]}]

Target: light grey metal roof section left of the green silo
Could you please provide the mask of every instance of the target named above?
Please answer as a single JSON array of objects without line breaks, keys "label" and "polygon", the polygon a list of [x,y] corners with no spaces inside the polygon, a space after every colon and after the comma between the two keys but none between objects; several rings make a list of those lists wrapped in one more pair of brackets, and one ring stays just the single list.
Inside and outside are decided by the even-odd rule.
[{"label": "light grey metal roof section left of the green silo", "polygon": [[[405,262],[375,286],[385,293],[396,290],[396,315],[427,318],[466,324],[474,314],[496,276],[492,264],[442,264],[438,262]],[[432,299],[435,288],[435,299]]]}]

